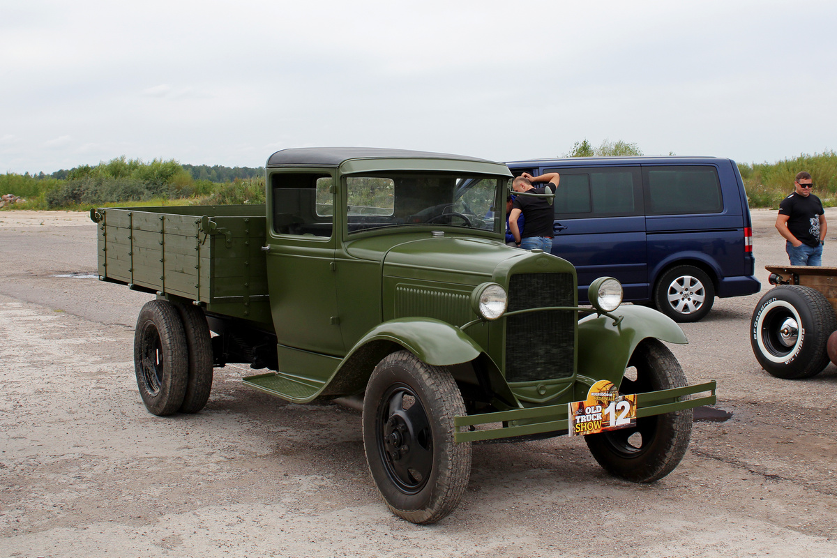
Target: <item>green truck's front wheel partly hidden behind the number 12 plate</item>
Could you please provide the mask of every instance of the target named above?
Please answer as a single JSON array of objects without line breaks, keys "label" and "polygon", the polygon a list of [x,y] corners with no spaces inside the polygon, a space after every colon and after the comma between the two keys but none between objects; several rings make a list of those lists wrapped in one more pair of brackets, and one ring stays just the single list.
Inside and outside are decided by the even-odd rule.
[{"label": "green truck's front wheel partly hidden behind the number 12 plate", "polygon": [[[623,378],[623,394],[653,392],[686,386],[686,376],[671,351],[660,341],[646,339],[637,346],[628,366],[636,379]],[[634,483],[652,483],[677,467],[691,439],[692,409],[638,418],[636,427],[589,434],[590,453],[608,473]]]}]

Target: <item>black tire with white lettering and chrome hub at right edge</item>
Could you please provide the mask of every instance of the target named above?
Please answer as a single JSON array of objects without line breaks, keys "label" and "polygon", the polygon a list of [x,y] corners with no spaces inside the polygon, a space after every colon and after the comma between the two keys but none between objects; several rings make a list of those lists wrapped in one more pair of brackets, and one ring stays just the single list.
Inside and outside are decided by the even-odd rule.
[{"label": "black tire with white lettering and chrome hub at right edge", "polygon": [[780,285],[758,301],[750,319],[750,345],[758,364],[778,378],[816,376],[829,365],[829,335],[837,318],[816,289]]}]

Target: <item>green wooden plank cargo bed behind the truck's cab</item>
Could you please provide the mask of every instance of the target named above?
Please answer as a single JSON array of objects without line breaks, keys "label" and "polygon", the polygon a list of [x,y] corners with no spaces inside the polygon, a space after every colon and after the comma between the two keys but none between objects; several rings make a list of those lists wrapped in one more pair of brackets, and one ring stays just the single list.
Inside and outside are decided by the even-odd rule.
[{"label": "green wooden plank cargo bed behind the truck's cab", "polygon": [[264,205],[100,207],[101,280],[271,324]]}]

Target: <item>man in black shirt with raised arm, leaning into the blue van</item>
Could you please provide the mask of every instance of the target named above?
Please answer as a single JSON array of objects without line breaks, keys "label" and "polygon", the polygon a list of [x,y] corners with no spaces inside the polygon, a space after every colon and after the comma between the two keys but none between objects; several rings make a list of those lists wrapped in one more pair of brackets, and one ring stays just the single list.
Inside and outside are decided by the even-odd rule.
[{"label": "man in black shirt with raised arm, leaning into the blue van", "polygon": [[[547,172],[540,177],[532,177],[528,172],[524,172],[511,182],[511,189],[515,192],[542,194],[546,192],[546,187],[536,188],[532,186],[532,182],[549,182],[554,189],[558,187],[560,180],[561,177],[557,172]],[[522,235],[517,227],[517,218],[521,213],[523,213],[523,218],[526,221],[526,230]],[[544,197],[517,196],[511,204],[511,213],[509,214],[511,236],[514,237],[515,243],[524,250],[541,248],[544,252],[552,252],[552,237],[555,234],[552,231],[554,221],[555,211]]]}]

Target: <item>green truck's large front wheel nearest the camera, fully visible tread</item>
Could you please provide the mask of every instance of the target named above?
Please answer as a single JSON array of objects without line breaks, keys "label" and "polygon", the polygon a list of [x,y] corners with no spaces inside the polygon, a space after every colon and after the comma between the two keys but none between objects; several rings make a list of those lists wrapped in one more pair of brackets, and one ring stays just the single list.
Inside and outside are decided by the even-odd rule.
[{"label": "green truck's large front wheel nearest the camera, fully visible tread", "polygon": [[363,399],[363,446],[393,514],[429,524],[459,504],[471,447],[454,443],[456,415],[465,415],[465,403],[448,370],[398,351],[372,371]]}]

